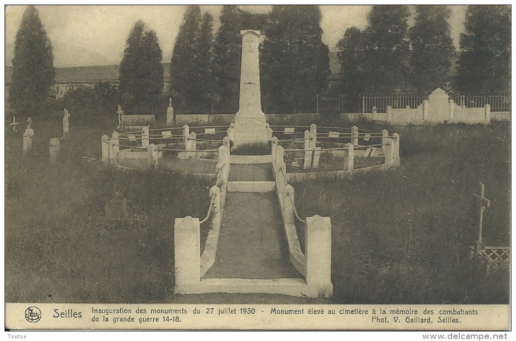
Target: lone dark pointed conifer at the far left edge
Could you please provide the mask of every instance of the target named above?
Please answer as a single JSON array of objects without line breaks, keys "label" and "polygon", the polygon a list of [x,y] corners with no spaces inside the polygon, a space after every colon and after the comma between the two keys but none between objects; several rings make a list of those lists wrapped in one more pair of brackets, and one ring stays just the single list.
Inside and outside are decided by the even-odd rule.
[{"label": "lone dark pointed conifer at the far left edge", "polygon": [[36,116],[46,110],[55,84],[52,44],[38,11],[28,6],[14,43],[9,104],[17,116]]}]

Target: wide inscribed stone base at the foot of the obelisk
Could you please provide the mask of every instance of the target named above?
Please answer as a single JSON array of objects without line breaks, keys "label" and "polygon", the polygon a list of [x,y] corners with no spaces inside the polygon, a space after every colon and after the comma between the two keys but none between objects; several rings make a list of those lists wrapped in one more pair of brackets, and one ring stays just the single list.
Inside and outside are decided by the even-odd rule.
[{"label": "wide inscribed stone base at the foot of the obelisk", "polygon": [[235,146],[250,143],[267,143],[263,112],[235,116]]}]

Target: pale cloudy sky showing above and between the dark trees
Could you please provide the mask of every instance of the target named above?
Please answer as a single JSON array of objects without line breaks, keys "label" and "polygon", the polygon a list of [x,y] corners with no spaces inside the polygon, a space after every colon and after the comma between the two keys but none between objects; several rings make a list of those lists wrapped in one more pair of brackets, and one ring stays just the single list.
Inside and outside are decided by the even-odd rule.
[{"label": "pale cloudy sky showing above and between the dark trees", "polygon": [[[367,26],[367,13],[372,6],[324,5],[322,13],[322,40],[333,50],[348,27]],[[9,5],[5,10],[5,65],[12,65],[14,41],[20,28],[26,6]],[[170,62],[175,38],[183,20],[186,6],[136,5],[38,5],[36,6],[54,48],[54,66],[115,65],[123,57],[125,41],[136,21],[143,20],[156,31],[163,50],[163,62]],[[254,13],[270,11],[271,6],[240,6]],[[449,6],[451,36],[458,49],[463,30],[466,6]],[[214,16],[214,30],[218,29],[222,6],[203,5],[201,11]],[[413,9],[411,8],[411,11]],[[409,25],[413,19],[409,19]]]}]

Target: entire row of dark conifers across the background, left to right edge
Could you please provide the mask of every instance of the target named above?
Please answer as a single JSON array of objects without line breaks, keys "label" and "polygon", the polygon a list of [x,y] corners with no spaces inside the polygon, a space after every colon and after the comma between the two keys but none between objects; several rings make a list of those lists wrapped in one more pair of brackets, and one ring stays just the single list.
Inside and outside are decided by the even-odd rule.
[{"label": "entire row of dark conifers across the background, left to right edge", "polygon": [[[415,6],[409,28],[407,6],[373,6],[364,31],[346,30],[338,42],[341,93],[390,92],[405,87],[428,93],[450,79],[456,52],[450,11],[444,5]],[[295,112],[328,89],[328,46],[322,43],[318,6],[273,6],[251,14],[235,5],[222,8],[220,28],[213,17],[188,6],[170,65],[175,104],[192,111],[213,106],[238,109],[240,30],[264,33],[260,47],[263,102],[276,112]],[[467,8],[460,37],[455,87],[461,92],[495,93],[510,88],[510,7]],[[156,33],[139,21],[126,41],[119,90],[128,100],[158,96],[164,79]],[[44,110],[54,85],[52,44],[34,6],[28,6],[14,46],[9,104],[18,115]],[[273,111],[268,111],[273,112]]]}]

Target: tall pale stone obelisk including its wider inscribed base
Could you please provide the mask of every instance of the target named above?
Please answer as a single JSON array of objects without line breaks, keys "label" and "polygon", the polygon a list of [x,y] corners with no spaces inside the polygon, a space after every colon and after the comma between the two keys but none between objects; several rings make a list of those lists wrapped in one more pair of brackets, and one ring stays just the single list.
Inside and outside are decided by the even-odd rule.
[{"label": "tall pale stone obelisk including its wider inscribed base", "polygon": [[240,66],[240,101],[235,116],[235,145],[267,142],[265,114],[260,98],[260,63],[258,38],[260,31],[243,30]]}]

